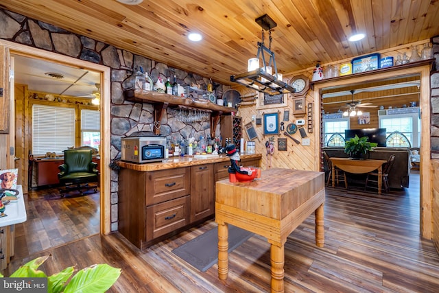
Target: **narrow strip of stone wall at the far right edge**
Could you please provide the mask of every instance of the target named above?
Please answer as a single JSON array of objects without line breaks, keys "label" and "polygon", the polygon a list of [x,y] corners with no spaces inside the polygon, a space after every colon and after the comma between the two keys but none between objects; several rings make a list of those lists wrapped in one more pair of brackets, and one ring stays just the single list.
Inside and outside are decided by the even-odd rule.
[{"label": "narrow strip of stone wall at the far right edge", "polygon": [[431,39],[434,58],[434,71],[431,71],[431,158],[439,159],[439,36]]}]

